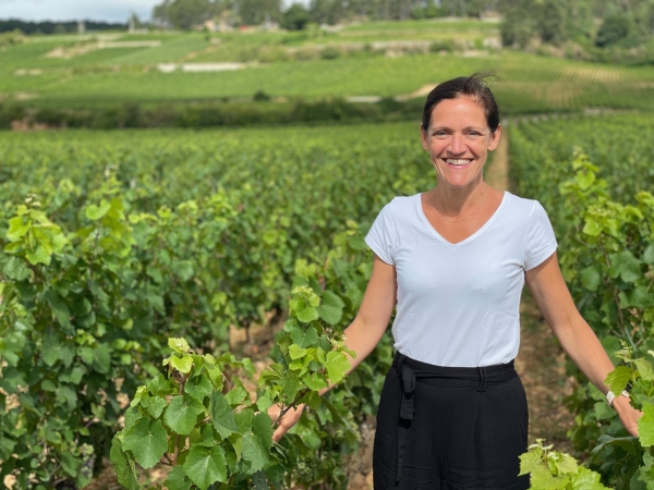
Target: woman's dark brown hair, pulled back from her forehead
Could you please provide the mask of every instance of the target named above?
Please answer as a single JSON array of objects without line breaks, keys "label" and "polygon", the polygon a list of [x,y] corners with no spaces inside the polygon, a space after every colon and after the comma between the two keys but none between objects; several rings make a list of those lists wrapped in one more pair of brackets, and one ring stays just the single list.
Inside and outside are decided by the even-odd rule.
[{"label": "woman's dark brown hair, pulled back from her forehead", "polygon": [[472,76],[460,76],[458,78],[448,79],[437,85],[425,102],[423,111],[422,126],[423,131],[427,131],[432,121],[432,111],[441,100],[456,99],[460,96],[471,97],[484,108],[486,113],[486,123],[491,128],[491,133],[495,133],[499,125],[499,109],[495,97],[486,85],[486,81],[493,76],[488,73],[475,73]]}]

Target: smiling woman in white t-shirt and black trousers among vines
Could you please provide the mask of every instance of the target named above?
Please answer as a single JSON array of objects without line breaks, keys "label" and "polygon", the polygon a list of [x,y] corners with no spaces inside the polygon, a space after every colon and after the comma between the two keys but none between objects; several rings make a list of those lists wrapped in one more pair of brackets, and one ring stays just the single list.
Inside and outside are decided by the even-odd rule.
[{"label": "smiling woman in white t-shirt and black trousers among vines", "polygon": [[[518,477],[528,412],[513,368],[525,281],[565,351],[608,392],[604,379],[614,366],[570,297],[545,210],[483,180],[500,135],[482,76],[438,85],[421,124],[437,185],[392,199],[366,236],[375,259],[346,330],[356,353],[352,369],[373,351],[397,303],[398,354],[377,414],[375,490],[529,487]],[[637,434],[641,414],[626,396],[610,401]],[[275,439],[300,415],[287,414]]]}]

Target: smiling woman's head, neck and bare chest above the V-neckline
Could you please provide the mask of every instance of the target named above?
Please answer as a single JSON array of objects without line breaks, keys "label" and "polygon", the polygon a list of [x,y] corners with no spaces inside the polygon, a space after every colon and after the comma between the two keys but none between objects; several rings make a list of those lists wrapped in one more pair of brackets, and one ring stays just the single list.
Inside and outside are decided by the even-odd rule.
[{"label": "smiling woman's head, neck and bare chest above the V-neckline", "polygon": [[440,84],[427,97],[421,124],[423,148],[441,183],[422,195],[425,216],[451,242],[473,234],[502,200],[501,193],[483,182],[484,164],[499,143],[501,126],[495,99],[481,79]]}]

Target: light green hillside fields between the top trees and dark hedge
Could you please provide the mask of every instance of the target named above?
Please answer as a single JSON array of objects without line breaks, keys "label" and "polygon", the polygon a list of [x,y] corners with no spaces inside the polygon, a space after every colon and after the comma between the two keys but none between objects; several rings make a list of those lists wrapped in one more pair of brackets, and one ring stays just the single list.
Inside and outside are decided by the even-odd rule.
[{"label": "light green hillside fields between the top trees and dark hedge", "polygon": [[[654,68],[499,49],[482,21],[366,23],[340,30],[27,37],[0,51],[0,94],[29,106],[88,108],[302,98],[423,96],[476,71],[498,75],[505,113],[654,108]],[[371,99],[375,100],[375,99]]]}]

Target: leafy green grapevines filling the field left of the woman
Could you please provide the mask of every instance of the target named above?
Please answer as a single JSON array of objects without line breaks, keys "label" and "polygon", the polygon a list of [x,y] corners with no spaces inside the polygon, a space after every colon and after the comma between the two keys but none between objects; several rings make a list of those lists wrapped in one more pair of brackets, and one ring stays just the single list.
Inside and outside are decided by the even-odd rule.
[{"label": "leafy green grapevines filling the field left of the woman", "polygon": [[[376,409],[389,340],[344,390],[324,403],[315,391],[347,368],[338,335],[371,267],[362,231],[392,195],[428,185],[415,133],[2,136],[1,476],[21,488],[84,487],[111,452],[132,488],[122,451],[131,450],[143,468],[164,452],[175,466],[216,466],[207,476],[216,479],[192,478],[203,489],[253,478],[262,488],[266,479],[344,488],[341,458]],[[253,364],[230,354],[230,326],[247,330],[289,305],[277,364],[251,403],[241,379]],[[191,345],[172,344],[179,356],[168,359],[182,377],[168,381],[170,338]],[[265,408],[299,400],[316,417],[269,452]],[[170,478],[170,489],[191,485],[179,470]]]}]

